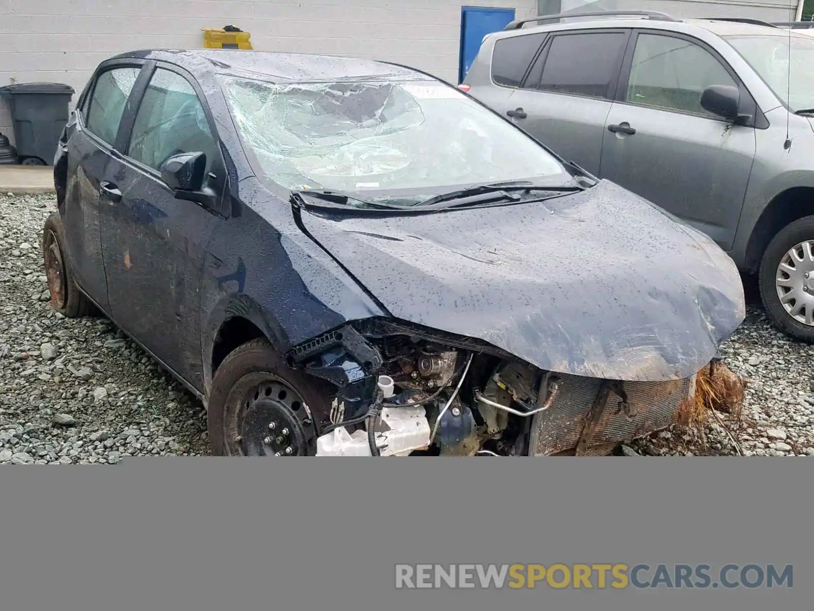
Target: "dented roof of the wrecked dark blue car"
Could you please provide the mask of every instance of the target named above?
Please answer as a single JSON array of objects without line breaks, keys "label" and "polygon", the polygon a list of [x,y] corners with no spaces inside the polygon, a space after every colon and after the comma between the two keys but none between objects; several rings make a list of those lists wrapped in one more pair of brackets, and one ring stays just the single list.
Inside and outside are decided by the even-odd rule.
[{"label": "dented roof of the wrecked dark blue car", "polygon": [[176,64],[192,74],[217,72],[272,81],[436,80],[427,73],[374,59],[237,49],[146,49],[111,59],[155,59]]}]

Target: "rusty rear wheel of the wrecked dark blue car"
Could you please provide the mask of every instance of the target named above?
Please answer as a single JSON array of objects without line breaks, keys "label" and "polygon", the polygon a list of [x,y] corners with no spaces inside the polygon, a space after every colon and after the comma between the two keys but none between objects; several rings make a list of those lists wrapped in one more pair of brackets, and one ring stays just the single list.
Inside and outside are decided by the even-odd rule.
[{"label": "rusty rear wheel of the wrecked dark blue car", "polygon": [[89,316],[95,308],[77,287],[68,253],[59,213],[46,218],[42,230],[42,256],[44,259],[50,304],[59,314],[77,319]]}]

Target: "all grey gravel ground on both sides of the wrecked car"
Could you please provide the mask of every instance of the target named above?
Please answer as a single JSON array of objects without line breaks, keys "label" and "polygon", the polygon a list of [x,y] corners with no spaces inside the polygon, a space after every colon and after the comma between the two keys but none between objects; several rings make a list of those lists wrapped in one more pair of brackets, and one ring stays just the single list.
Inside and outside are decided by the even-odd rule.
[{"label": "all grey gravel ground on both sides of the wrecked car", "polygon": [[[50,308],[40,235],[54,209],[53,196],[0,195],[0,463],[208,454],[204,409],[186,389],[107,319]],[[775,331],[753,304],[721,352],[749,379],[740,420],[725,423],[742,453],[814,455],[814,346]],[[702,433],[673,429],[620,450],[738,453],[714,419]]]}]

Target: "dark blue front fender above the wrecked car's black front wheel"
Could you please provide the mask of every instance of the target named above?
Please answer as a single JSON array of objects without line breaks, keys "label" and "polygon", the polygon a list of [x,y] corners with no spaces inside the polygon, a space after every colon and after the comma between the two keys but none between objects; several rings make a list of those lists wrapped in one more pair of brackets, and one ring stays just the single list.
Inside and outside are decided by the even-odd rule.
[{"label": "dark blue front fender above the wrecked car's black front wheel", "polygon": [[[245,202],[252,202],[246,204]],[[201,296],[206,394],[217,332],[240,317],[281,353],[344,323],[387,315],[296,225],[291,205],[254,179],[240,183],[239,213],[221,221],[207,248]]]}]

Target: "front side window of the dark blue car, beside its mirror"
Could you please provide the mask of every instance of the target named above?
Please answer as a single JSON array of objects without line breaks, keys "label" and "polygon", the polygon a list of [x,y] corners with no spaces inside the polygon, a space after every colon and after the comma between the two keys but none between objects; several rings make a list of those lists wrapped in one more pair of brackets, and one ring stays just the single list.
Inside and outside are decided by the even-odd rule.
[{"label": "front side window of the dark blue car, beside its mirror", "polygon": [[190,82],[170,70],[157,69],[138,107],[127,154],[160,170],[173,155],[203,152],[208,173],[216,150],[204,106]]}]

